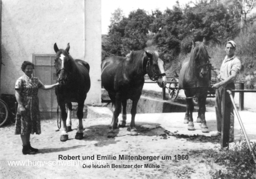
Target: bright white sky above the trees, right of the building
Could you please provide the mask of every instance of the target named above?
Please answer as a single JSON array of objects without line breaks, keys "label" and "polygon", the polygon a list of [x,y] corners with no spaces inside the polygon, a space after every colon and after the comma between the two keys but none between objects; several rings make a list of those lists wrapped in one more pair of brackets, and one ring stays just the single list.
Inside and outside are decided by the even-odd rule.
[{"label": "bright white sky above the trees, right of the building", "polygon": [[[189,1],[191,0],[179,0],[180,6],[183,7]],[[131,11],[137,9],[144,9],[149,13],[156,9],[163,12],[167,7],[172,9],[175,4],[176,0],[101,0],[101,34],[108,33],[111,13],[117,8],[122,9],[125,17],[128,17]]]}]

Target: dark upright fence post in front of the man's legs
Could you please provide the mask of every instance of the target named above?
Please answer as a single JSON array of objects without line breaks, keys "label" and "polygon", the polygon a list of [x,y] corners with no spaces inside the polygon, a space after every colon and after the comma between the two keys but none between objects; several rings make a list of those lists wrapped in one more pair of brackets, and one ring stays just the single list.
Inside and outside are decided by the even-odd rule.
[{"label": "dark upright fence post in front of the man's legs", "polygon": [[229,147],[229,130],[230,130],[230,112],[231,100],[227,90],[231,88],[224,88],[222,97],[222,119],[221,119],[221,148]]}]

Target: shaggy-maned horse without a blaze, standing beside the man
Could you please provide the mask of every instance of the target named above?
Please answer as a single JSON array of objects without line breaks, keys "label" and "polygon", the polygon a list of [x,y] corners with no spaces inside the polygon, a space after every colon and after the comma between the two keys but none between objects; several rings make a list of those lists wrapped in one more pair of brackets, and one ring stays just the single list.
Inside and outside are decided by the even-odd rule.
[{"label": "shaggy-maned horse without a blaze, standing beside the man", "polygon": [[[192,41],[193,42],[193,41]],[[198,117],[196,122],[202,123],[202,132],[209,132],[205,121],[205,101],[208,87],[210,85],[210,67],[209,55],[205,47],[205,38],[203,42],[193,42],[190,59],[185,59],[179,74],[179,85],[183,88],[186,95],[187,110],[184,123],[188,124],[188,130],[195,130],[193,123],[193,99],[198,98]]]}]

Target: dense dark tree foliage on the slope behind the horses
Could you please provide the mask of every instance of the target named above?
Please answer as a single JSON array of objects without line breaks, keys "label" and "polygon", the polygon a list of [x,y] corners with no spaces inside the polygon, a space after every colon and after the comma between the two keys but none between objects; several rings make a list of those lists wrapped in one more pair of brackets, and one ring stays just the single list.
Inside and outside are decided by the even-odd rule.
[{"label": "dense dark tree foliage on the slope behind the horses", "polygon": [[102,57],[143,50],[150,41],[170,63],[180,52],[190,52],[192,40],[202,41],[206,37],[212,43],[223,44],[237,35],[240,22],[236,4],[226,2],[228,5],[217,5],[215,0],[200,0],[181,8],[177,1],[164,12],[155,10],[148,14],[138,9],[127,18],[117,9],[112,14],[108,40],[102,43]]}]

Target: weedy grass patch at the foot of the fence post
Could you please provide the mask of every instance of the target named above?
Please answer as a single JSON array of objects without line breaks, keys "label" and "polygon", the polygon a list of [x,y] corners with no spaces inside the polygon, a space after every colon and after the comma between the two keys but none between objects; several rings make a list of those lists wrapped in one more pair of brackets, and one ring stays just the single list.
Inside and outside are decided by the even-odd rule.
[{"label": "weedy grass patch at the foot of the fence post", "polygon": [[[251,145],[255,154],[256,143]],[[191,150],[188,155],[200,156],[222,166],[223,170],[212,172],[213,179],[255,179],[255,162],[244,141],[235,142],[229,150]]]}]

